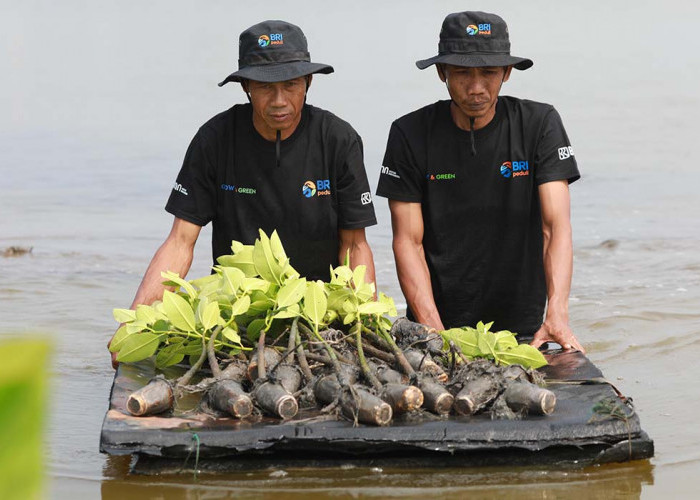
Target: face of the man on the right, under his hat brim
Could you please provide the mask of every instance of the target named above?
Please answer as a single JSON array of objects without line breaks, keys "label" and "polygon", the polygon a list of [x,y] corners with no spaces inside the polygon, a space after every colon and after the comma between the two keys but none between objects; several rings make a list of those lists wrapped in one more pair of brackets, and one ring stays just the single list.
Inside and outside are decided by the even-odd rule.
[{"label": "face of the man on the right, under his hat brim", "polygon": [[475,119],[475,128],[491,121],[496,113],[501,84],[508,80],[511,70],[512,66],[466,68],[451,64],[438,68],[440,79],[447,83],[447,90],[456,104],[453,116],[458,126],[469,118]]}]

